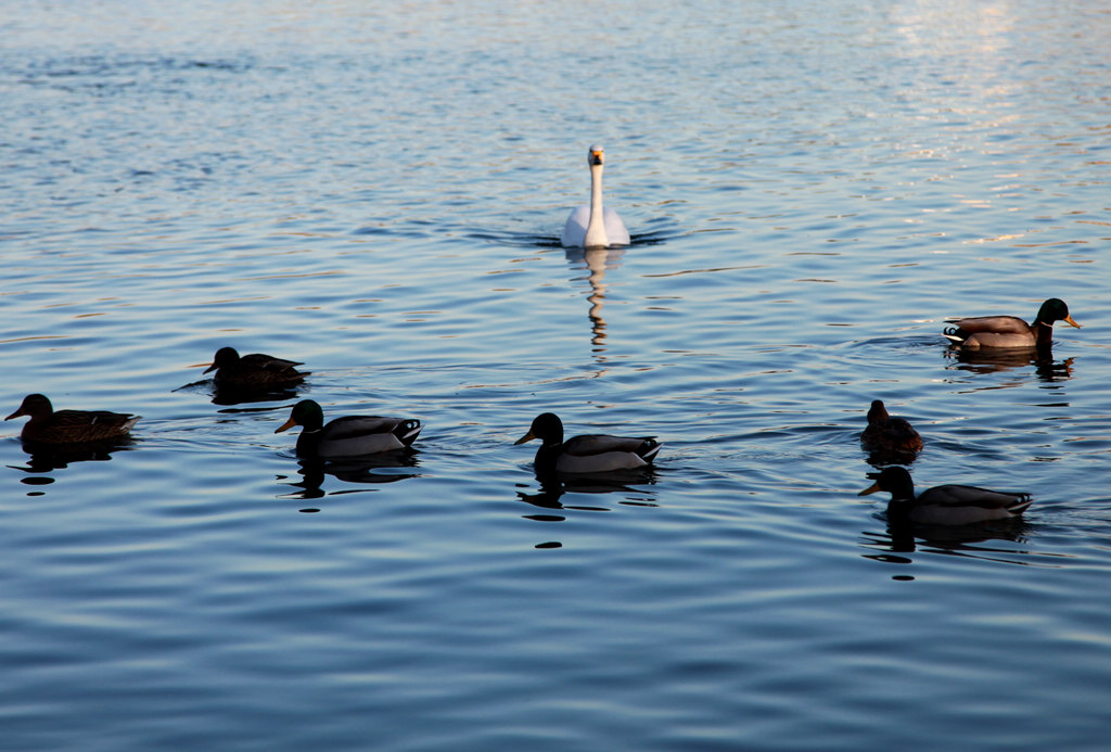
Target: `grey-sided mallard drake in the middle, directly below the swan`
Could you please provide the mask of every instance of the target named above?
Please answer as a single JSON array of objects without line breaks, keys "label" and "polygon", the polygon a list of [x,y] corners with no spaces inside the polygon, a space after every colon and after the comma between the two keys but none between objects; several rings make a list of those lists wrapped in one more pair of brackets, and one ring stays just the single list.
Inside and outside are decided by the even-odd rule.
[{"label": "grey-sided mallard drake in the middle, directly below the swan", "polygon": [[662,444],[654,437],[628,439],[601,433],[563,441],[563,422],[546,412],[537,415],[529,432],[516,444],[540,439],[536,468],[539,472],[589,473],[631,470],[652,463]]}]

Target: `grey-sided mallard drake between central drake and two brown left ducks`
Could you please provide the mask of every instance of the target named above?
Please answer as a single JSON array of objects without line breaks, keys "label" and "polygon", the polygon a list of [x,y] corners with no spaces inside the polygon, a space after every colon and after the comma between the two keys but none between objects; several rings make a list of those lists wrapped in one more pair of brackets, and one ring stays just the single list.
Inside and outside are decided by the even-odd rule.
[{"label": "grey-sided mallard drake between central drake and two brown left ducks", "polygon": [[300,425],[297,453],[301,457],[323,459],[362,457],[396,449],[406,449],[417,440],[423,428],[412,418],[381,418],[378,415],[344,415],[324,424],[324,411],[313,400],[301,400],[293,405],[289,420],[274,433]]}]

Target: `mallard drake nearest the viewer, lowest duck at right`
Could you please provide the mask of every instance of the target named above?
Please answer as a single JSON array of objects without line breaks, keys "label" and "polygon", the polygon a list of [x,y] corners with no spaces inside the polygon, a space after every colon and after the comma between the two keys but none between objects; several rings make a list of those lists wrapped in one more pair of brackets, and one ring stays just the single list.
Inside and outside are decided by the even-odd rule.
[{"label": "mallard drake nearest the viewer, lowest duck at right", "polygon": [[870,472],[875,482],[858,495],[888,491],[888,519],[922,524],[970,524],[1018,517],[1033,502],[1029,493],[991,491],[973,485],[937,485],[914,497],[914,481],[905,468]]}]

